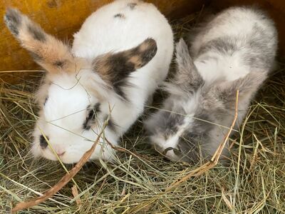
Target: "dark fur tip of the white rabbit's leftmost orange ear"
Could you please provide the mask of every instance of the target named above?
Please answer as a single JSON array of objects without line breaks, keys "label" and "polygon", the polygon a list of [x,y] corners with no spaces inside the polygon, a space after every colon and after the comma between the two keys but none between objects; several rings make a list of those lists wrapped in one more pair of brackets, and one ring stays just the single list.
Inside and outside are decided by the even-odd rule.
[{"label": "dark fur tip of the white rabbit's leftmost orange ear", "polygon": [[21,14],[15,9],[8,9],[4,16],[6,26],[12,34],[19,35],[19,26],[21,25]]}]

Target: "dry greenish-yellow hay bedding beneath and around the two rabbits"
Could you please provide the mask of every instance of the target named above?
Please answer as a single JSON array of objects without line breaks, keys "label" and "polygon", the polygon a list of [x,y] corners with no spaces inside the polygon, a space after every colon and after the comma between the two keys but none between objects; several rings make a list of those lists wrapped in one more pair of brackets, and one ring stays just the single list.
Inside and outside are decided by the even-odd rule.
[{"label": "dry greenish-yellow hay bedding beneath and around the two rabbits", "polygon": [[[199,15],[173,21],[175,37],[185,36]],[[239,134],[230,139],[229,167],[218,164],[165,192],[202,163],[167,161],[147,146],[140,119],[123,137],[116,163],[87,163],[73,178],[76,185],[68,183],[23,213],[285,213],[284,70],[285,63],[279,63],[252,102]],[[66,174],[60,163],[33,160],[29,153],[37,111],[33,91],[40,76],[38,72],[17,85],[0,86],[0,213],[41,196]],[[163,96],[157,93],[155,106]]]}]

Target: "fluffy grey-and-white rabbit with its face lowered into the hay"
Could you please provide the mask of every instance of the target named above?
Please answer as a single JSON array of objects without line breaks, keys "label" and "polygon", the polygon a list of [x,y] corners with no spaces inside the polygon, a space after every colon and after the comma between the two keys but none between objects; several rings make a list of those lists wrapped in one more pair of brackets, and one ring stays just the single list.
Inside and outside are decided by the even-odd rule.
[{"label": "fluffy grey-and-white rabbit with its face lowered into the hay", "polygon": [[[274,68],[277,31],[259,9],[232,7],[199,26],[190,49],[176,45],[176,73],[163,89],[169,96],[145,121],[150,143],[172,161],[197,163],[212,158],[234,120]],[[227,164],[229,146],[222,151]]]}]

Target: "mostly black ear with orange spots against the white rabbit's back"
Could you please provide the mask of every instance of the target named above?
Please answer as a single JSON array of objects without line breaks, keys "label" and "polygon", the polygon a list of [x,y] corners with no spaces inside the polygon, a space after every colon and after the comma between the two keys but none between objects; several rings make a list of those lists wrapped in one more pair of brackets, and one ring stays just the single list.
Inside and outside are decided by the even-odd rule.
[{"label": "mostly black ear with orange spots against the white rabbit's back", "polygon": [[155,40],[146,39],[133,49],[98,56],[93,61],[93,66],[103,81],[113,86],[119,95],[123,95],[121,87],[125,85],[125,79],[131,72],[145,66],[156,52]]}]

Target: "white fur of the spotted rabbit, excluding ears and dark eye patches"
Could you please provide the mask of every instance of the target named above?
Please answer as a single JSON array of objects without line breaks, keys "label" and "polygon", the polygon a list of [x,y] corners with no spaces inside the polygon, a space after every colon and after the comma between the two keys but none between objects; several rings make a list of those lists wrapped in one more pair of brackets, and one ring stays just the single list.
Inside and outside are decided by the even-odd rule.
[{"label": "white fur of the spotted rabbit, excluding ears and dark eye patches", "polygon": [[[130,10],[130,3],[137,4],[135,9]],[[115,14],[125,17],[123,20],[115,19]],[[33,133],[35,141],[32,151],[35,156],[56,160],[50,148],[41,149],[39,146],[38,136],[44,133],[54,151],[65,152],[60,157],[61,161],[76,163],[100,133],[104,114],[111,114],[113,122],[118,125],[115,133],[105,128],[105,138],[114,146],[118,145],[120,136],[141,115],[147,98],[167,76],[173,51],[172,30],[155,6],[137,0],[118,0],[103,6],[86,19],[74,34],[72,51],[75,56],[87,61],[110,51],[132,49],[147,38],[155,39],[157,54],[146,66],[131,74],[130,86],[125,88],[128,101],[123,101],[108,86],[104,86],[88,67],[86,71],[78,71],[77,76],[61,73],[46,77],[46,83],[38,92],[41,105],[46,96],[48,101],[40,112]],[[95,96],[92,89],[99,91],[101,97]],[[97,102],[100,102],[101,110],[98,123],[89,131],[83,130],[86,106]],[[91,158],[111,160],[113,152],[101,138]]]}]

